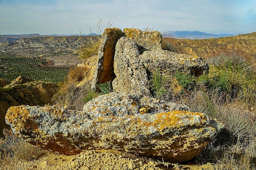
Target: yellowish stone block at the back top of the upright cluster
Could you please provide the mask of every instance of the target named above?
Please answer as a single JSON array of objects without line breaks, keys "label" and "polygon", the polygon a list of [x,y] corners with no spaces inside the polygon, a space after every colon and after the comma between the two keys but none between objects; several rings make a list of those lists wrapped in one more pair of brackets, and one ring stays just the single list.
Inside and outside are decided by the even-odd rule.
[{"label": "yellowish stone block at the back top of the upright cluster", "polygon": [[145,50],[162,49],[162,35],[159,31],[141,31],[135,28],[125,28],[124,36],[135,40],[141,54]]}]

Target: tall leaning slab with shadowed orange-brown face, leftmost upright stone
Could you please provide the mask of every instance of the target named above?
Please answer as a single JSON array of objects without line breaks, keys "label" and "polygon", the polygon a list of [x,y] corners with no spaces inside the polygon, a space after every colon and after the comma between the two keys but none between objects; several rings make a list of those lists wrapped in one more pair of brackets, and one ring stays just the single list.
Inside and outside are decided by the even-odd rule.
[{"label": "tall leaning slab with shadowed orange-brown face, leftmost upright stone", "polygon": [[96,89],[96,84],[113,81],[115,78],[113,60],[117,40],[123,36],[119,28],[106,28],[101,36],[98,50],[98,62],[94,72],[91,89]]}]

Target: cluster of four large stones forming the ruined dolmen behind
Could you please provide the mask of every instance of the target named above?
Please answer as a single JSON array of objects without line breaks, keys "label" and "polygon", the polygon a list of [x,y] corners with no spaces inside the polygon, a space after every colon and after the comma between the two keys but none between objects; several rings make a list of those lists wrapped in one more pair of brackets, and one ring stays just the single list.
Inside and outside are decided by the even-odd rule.
[{"label": "cluster of four large stones forming the ruined dolmen behind", "polygon": [[160,74],[176,71],[193,76],[208,74],[209,65],[202,58],[162,50],[162,36],[158,31],[126,28],[126,37],[120,38],[121,35],[120,29],[105,29],[91,89],[110,81],[114,92],[150,97],[149,79],[157,70]]}]

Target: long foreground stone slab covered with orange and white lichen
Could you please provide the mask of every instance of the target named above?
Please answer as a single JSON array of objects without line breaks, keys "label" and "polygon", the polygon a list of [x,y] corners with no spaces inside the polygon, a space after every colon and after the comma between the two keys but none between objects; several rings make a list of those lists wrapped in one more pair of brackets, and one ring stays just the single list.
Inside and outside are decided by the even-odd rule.
[{"label": "long foreground stone slab covered with orange and white lichen", "polygon": [[223,128],[206,114],[188,111],[91,119],[62,107],[21,105],[10,107],[5,118],[25,141],[61,154],[112,149],[170,162],[192,159]]}]

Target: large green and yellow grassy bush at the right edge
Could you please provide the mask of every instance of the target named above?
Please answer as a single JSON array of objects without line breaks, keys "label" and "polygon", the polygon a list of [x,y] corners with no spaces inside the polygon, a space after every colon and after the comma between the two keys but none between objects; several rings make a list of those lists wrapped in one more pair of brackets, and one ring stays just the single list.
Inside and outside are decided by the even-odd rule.
[{"label": "large green and yellow grassy bush at the right edge", "polygon": [[254,65],[236,53],[222,53],[211,60],[214,88],[225,93],[230,101],[255,105],[256,72]]}]

